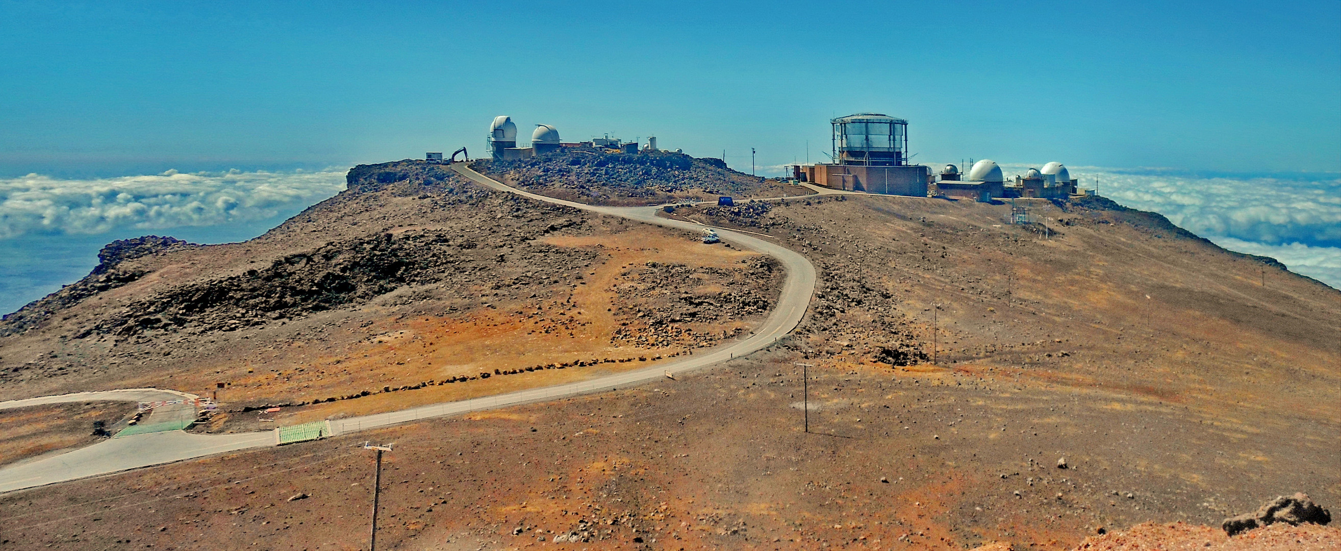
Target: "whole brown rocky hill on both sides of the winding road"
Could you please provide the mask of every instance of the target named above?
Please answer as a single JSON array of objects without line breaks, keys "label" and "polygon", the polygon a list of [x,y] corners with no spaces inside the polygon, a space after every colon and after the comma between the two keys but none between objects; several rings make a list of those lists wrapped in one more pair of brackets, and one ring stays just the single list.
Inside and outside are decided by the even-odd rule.
[{"label": "whole brown rocky hill on both sides of the winding road", "polygon": [[[483,169],[578,189],[527,166],[531,180]],[[626,173],[582,197],[661,201]],[[665,193],[685,189],[701,188]],[[1065,550],[1157,532],[1141,523],[1218,526],[1297,491],[1341,503],[1341,292],[1102,198],[1029,205],[1039,223],[886,196],[676,208],[662,216],[762,233],[814,263],[793,336],[658,383],[4,495],[7,538],[358,547],[370,460],[351,445],[365,440],[397,442],[378,542],[398,548]],[[441,165],[358,166],[349,190],[248,243],[118,245],[153,252],[109,255],[90,278],[138,273],[129,283],[7,318],[30,324],[0,336],[0,381],[20,397],[227,378],[235,413],[205,430],[260,428],[239,406],[286,395],[374,390],[276,416],[300,421],[563,381],[758,323],[776,265],[691,237]],[[326,282],[347,291],[303,291]],[[228,299],[182,306],[197,296]],[[172,324],[137,328],[142,304]],[[570,366],[409,389],[548,363]],[[375,391],[397,383],[408,390]],[[129,495],[153,511],[103,513]],[[83,513],[102,520],[63,536]]]}]

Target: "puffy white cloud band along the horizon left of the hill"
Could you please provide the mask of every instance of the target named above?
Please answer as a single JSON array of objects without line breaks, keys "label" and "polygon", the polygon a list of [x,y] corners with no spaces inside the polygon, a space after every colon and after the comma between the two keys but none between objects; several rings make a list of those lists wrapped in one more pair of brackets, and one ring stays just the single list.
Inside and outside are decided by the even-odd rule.
[{"label": "puffy white cloud band along the horizon left of the hill", "polygon": [[56,180],[0,178],[0,239],[261,220],[345,188],[345,170],[240,172]]}]

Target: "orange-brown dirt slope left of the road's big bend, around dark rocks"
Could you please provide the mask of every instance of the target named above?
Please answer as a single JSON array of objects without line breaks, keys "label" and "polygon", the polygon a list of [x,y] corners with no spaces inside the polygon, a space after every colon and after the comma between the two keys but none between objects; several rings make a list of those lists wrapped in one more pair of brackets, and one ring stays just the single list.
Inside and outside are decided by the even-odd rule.
[{"label": "orange-brown dirt slope left of the road's big bend, around dark rocks", "polygon": [[[762,259],[760,255],[704,245],[693,233],[548,205],[519,213],[511,196],[487,194],[493,202],[437,208],[425,208],[424,200],[392,190],[354,197],[342,194],[252,241],[131,260],[149,273],[75,304],[40,330],[0,339],[5,350],[0,361],[3,373],[27,377],[0,386],[0,395],[24,398],[148,386],[216,395],[216,382],[224,382],[225,389],[217,391],[223,406],[220,414],[198,429],[267,429],[272,422],[378,413],[642,367],[656,363],[652,358],[679,355],[691,347],[734,338],[759,323],[767,311],[677,320],[668,324],[675,328],[673,338],[646,345],[616,342],[617,328],[664,322],[666,315],[661,312],[683,310],[680,294],[703,295],[732,288],[770,296],[780,283],[780,273],[758,278],[746,267]],[[522,204],[536,205],[532,201]],[[516,237],[548,224],[563,228],[534,241]],[[477,233],[481,244],[457,252],[463,260],[522,256],[535,249],[554,260],[539,265],[488,261],[499,267],[492,268],[493,272],[467,275],[467,282],[455,283],[455,287],[404,286],[369,303],[237,331],[68,338],[72,327],[89,324],[90,319],[115,312],[129,300],[182,282],[245,271],[257,261],[268,264],[272,257],[331,239],[424,232]],[[668,259],[692,272],[691,276],[645,280],[648,276],[636,268],[664,264]],[[519,283],[500,284],[512,280]],[[656,287],[656,292],[617,299],[617,286]],[[652,315],[634,319],[634,311]],[[578,359],[620,362],[378,394],[384,387]],[[51,362],[46,365],[51,375],[30,377],[27,366],[32,361]],[[325,401],[365,390],[374,394],[286,408],[279,416],[241,412],[243,406]]]}]

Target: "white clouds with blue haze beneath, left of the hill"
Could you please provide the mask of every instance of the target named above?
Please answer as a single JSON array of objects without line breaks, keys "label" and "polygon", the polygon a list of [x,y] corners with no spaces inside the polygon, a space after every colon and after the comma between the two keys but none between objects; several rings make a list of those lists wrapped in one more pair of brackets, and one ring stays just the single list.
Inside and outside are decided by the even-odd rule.
[{"label": "white clouds with blue haze beneath, left of the hill", "polygon": [[0,314],[83,278],[113,240],[241,241],[343,188],[343,169],[0,178]]}]

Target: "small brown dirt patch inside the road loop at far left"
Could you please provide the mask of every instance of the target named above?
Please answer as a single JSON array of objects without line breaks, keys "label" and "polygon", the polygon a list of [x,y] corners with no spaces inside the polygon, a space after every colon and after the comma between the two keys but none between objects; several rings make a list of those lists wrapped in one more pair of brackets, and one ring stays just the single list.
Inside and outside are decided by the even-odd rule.
[{"label": "small brown dirt patch inside the road loop at far left", "polygon": [[129,402],[71,402],[0,410],[0,465],[55,450],[82,448],[105,437],[93,434],[93,422],[107,430],[134,413]]}]

